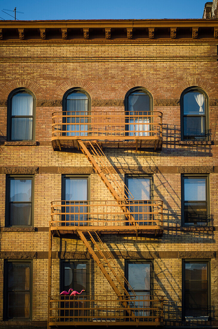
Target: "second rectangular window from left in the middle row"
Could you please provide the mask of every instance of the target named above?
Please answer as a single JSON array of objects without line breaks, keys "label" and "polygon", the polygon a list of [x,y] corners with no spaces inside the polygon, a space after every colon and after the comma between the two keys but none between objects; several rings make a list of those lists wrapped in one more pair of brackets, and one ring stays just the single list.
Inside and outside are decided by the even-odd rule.
[{"label": "second rectangular window from left in the middle row", "polygon": [[62,225],[88,225],[89,176],[63,176]]}]

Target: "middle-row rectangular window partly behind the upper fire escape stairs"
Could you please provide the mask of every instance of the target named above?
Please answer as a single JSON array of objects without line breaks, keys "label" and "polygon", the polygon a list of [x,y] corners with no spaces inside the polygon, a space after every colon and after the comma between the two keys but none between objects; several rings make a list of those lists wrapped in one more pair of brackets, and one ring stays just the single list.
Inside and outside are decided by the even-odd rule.
[{"label": "middle-row rectangular window partly behind the upper fire escape stairs", "polygon": [[[134,199],[129,196],[129,209],[139,225],[152,225],[153,215],[150,200],[152,199],[152,177],[132,175],[126,176],[126,185]],[[129,223],[126,222],[126,225]]]}]

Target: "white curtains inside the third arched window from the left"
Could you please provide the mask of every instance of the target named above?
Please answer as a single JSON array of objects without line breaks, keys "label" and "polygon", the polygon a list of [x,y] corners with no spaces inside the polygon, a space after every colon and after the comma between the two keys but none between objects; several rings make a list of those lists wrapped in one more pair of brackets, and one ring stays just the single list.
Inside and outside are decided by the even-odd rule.
[{"label": "white curtains inside the third arched window from the left", "polygon": [[[129,100],[129,136],[149,136],[150,119],[139,117],[139,111],[134,111],[134,104],[137,102],[140,95],[131,94]],[[142,111],[140,111],[142,112]],[[143,113],[143,112],[142,112]]]}]

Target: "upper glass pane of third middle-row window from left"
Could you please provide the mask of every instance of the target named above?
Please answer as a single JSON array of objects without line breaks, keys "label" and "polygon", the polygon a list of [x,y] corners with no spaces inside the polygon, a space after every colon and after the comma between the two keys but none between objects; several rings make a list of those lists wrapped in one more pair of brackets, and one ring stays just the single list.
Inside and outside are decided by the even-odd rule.
[{"label": "upper glass pane of third middle-row window from left", "polygon": [[150,178],[128,177],[128,189],[135,200],[150,200]]}]

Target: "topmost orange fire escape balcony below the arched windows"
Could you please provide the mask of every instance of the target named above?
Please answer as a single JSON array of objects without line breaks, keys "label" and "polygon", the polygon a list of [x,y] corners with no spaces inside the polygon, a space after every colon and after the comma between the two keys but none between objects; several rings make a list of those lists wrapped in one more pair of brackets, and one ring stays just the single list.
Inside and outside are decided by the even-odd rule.
[{"label": "topmost orange fire escape balcony below the arched windows", "polygon": [[96,141],[101,147],[122,147],[160,151],[162,148],[161,112],[54,112],[52,146],[55,151],[79,149]]}]

